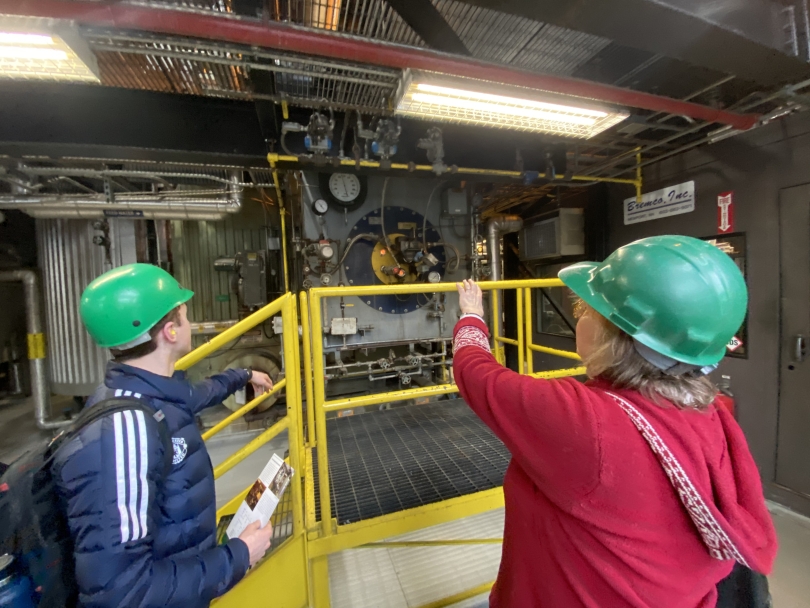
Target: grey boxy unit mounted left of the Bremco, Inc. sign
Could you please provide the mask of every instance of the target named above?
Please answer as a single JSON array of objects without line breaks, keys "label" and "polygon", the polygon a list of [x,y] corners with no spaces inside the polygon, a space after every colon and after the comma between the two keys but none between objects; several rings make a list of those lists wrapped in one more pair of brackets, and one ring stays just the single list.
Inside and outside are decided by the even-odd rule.
[{"label": "grey boxy unit mounted left of the Bremco, Inc. sign", "polygon": [[520,231],[520,259],[542,260],[568,255],[585,255],[583,209],[560,209]]}]

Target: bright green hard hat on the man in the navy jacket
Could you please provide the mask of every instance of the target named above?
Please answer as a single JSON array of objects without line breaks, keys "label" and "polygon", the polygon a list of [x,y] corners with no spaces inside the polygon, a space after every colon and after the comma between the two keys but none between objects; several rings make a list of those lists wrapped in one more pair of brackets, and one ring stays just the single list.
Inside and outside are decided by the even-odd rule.
[{"label": "bright green hard hat on the man in the navy jacket", "polygon": [[94,279],[79,306],[84,326],[102,348],[132,348],[149,341],[149,330],[193,291],[152,264],[127,264]]}]

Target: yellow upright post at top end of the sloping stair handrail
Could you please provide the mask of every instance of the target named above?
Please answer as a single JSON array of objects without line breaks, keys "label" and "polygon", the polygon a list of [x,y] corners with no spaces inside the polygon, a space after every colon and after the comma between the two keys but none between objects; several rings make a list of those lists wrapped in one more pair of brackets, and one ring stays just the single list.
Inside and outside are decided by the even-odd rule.
[{"label": "yellow upright post at top end of the sloping stair handrail", "polygon": [[[290,466],[302,475],[301,459],[303,438],[301,435],[301,366],[298,357],[298,322],[296,319],[295,296],[287,294],[281,318],[284,328],[284,362],[287,376],[287,418],[290,421],[288,438],[290,444]],[[304,500],[300,477],[292,486],[293,534],[304,534]]]}]

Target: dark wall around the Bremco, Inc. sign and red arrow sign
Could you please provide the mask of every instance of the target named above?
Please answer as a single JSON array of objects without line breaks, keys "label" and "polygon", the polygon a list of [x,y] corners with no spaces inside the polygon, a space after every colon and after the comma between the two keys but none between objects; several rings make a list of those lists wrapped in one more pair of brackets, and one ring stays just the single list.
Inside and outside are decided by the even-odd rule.
[{"label": "dark wall around the Bremco, Inc. sign and red arrow sign", "polygon": [[[772,482],[779,398],[779,191],[810,182],[810,114],[653,165],[644,174],[644,192],[689,180],[695,181],[694,212],[631,226],[624,225],[622,203],[632,192],[613,188],[610,247],[658,234],[716,234],[717,195],[734,191],[735,229],[747,236],[749,354],[747,360],[726,357],[718,373],[731,376],[740,424],[763,479]],[[771,495],[777,492],[770,487]]]}]

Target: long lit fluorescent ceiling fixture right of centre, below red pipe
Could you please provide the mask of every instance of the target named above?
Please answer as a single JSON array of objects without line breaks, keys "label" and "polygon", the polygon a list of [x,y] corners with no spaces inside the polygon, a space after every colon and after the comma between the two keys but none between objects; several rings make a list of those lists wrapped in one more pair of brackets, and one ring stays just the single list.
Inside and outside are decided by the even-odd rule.
[{"label": "long lit fluorescent ceiling fixture right of centre, below red pipe", "polygon": [[590,101],[483,80],[406,70],[397,114],[499,129],[589,138],[627,118]]}]

